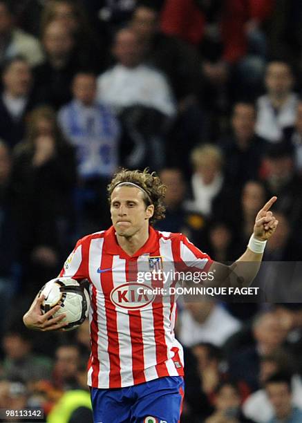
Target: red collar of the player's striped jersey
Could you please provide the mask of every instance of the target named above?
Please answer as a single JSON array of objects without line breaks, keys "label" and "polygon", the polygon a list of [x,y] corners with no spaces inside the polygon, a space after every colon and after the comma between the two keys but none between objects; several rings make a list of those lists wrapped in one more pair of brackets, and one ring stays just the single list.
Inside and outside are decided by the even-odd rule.
[{"label": "red collar of the player's striped jersey", "polygon": [[134,257],[142,256],[142,254],[153,253],[158,250],[158,233],[151,226],[149,226],[149,238],[147,239],[147,242],[144,243],[144,245],[140,247],[140,250],[135,252],[133,256],[129,256],[129,254],[127,254],[117,243],[115,229],[113,226],[106,230],[104,238],[105,242],[103,249],[107,254],[118,254],[126,259],[133,259]]}]

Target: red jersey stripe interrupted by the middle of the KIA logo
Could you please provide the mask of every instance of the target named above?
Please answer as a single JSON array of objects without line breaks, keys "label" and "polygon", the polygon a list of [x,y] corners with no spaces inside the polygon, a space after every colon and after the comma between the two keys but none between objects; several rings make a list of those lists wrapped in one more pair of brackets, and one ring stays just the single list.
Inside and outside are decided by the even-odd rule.
[{"label": "red jersey stripe interrupted by the middle of the KIA logo", "polygon": [[[126,281],[135,282],[138,277],[137,261],[126,261]],[[129,310],[129,329],[132,347],[132,375],[134,384],[146,382],[144,377],[144,343],[140,310]]]}]

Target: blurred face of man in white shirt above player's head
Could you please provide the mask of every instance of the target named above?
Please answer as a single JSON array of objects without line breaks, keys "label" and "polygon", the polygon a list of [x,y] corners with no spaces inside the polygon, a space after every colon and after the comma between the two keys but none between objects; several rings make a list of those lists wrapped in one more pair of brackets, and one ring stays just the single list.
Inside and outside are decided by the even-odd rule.
[{"label": "blurred face of man in white shirt above player's head", "polygon": [[134,68],[142,59],[142,45],[133,30],[120,30],[115,36],[113,54],[120,64]]}]

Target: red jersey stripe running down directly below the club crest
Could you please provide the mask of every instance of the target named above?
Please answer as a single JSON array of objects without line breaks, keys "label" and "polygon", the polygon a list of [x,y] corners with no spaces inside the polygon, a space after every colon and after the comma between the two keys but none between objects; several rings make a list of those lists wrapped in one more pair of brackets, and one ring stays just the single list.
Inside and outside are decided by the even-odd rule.
[{"label": "red jersey stripe running down directly below the club crest", "polygon": [[[160,250],[154,252],[153,256],[160,256]],[[159,281],[152,280],[152,288],[162,288]],[[156,295],[155,301],[152,303],[153,323],[154,323],[154,337],[155,337],[155,352],[156,352],[156,371],[158,377],[169,376],[169,372],[164,361],[169,359],[167,355],[167,344],[164,337],[164,307],[162,304],[162,296]]]}]

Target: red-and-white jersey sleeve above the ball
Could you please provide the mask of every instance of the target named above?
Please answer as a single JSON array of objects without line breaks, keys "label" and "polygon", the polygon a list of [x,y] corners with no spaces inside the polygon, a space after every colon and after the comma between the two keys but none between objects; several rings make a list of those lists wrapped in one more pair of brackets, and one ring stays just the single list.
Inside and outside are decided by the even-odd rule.
[{"label": "red-and-white jersey sleeve above the ball", "polygon": [[85,259],[85,245],[83,239],[80,239],[66,259],[59,277],[73,278],[77,281],[88,279],[88,263],[85,263]]}]

